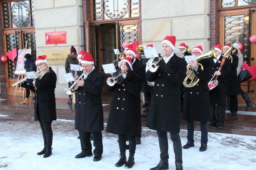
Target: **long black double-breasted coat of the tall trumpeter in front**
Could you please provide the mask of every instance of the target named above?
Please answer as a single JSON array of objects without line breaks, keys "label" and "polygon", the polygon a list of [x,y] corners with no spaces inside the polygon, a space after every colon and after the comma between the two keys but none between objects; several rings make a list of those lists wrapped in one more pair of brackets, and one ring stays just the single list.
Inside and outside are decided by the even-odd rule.
[{"label": "long black double-breasted coat of the tall trumpeter in front", "polygon": [[167,63],[168,71],[161,68],[146,72],[146,80],[155,82],[146,127],[165,132],[180,132],[180,84],[183,82],[187,63],[174,54]]}]

